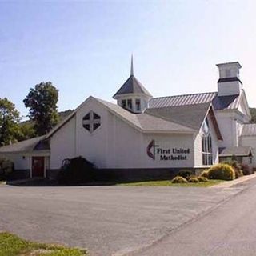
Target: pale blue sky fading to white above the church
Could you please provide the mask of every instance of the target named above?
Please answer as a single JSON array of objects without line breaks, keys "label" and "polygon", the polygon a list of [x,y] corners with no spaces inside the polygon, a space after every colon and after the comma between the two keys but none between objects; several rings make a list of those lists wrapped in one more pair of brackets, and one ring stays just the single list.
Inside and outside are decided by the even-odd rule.
[{"label": "pale blue sky fading to white above the church", "polygon": [[112,96],[134,75],[154,97],[217,90],[217,63],[238,61],[256,107],[256,2],[2,1],[0,98],[23,99],[40,82],[59,90],[58,110]]}]

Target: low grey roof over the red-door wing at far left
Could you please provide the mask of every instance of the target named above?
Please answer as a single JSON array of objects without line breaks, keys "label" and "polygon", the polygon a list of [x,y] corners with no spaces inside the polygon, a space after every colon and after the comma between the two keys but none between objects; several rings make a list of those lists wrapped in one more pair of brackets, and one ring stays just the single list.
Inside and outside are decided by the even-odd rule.
[{"label": "low grey roof over the red-door wing at far left", "polygon": [[44,136],[30,138],[26,141],[17,142],[7,146],[0,147],[1,153],[18,153],[18,152],[31,152],[33,150],[49,150],[49,145],[43,142]]}]

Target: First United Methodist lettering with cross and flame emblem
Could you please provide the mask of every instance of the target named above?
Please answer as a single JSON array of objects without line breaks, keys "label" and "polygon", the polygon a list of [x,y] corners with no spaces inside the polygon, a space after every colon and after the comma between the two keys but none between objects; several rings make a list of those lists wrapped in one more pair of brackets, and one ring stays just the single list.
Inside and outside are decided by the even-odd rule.
[{"label": "First United Methodist lettering with cross and flame emblem", "polygon": [[159,158],[160,161],[182,161],[188,160],[190,148],[162,148],[161,146],[156,145],[153,139],[146,147],[146,154],[153,160]]}]

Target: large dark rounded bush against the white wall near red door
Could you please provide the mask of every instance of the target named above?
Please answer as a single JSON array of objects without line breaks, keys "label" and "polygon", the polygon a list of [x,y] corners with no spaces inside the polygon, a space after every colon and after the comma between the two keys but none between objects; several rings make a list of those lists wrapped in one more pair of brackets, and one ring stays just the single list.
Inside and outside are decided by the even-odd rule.
[{"label": "large dark rounded bush against the white wall near red door", "polygon": [[92,181],[95,167],[85,158],[65,159],[63,162],[57,177],[59,184],[74,185]]}]

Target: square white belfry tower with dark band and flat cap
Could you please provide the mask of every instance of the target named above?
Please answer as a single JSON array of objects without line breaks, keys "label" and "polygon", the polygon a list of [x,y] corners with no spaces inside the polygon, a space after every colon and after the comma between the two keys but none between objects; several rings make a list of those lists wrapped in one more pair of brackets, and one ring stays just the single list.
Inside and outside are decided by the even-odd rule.
[{"label": "square white belfry tower with dark band and flat cap", "polygon": [[239,70],[242,66],[239,62],[228,62],[217,64],[218,96],[238,95],[242,90],[242,82],[239,78]]}]

